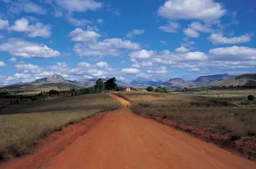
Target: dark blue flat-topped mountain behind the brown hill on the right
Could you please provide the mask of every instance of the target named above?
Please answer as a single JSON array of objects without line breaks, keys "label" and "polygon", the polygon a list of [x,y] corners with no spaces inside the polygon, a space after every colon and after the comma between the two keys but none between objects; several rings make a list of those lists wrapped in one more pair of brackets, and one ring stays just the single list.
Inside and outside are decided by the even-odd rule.
[{"label": "dark blue flat-topped mountain behind the brown hill on the right", "polygon": [[200,76],[198,77],[194,82],[195,83],[208,83],[211,81],[222,81],[225,79],[228,79],[230,77],[233,77],[232,75],[229,75],[227,73],[225,74],[216,74],[216,75],[208,75],[208,76]]}]

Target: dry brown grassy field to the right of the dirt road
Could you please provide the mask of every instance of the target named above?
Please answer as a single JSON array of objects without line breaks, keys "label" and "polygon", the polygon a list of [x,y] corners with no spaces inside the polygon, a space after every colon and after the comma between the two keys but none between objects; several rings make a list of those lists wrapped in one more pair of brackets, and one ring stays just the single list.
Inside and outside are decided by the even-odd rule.
[{"label": "dry brown grassy field to the right of the dirt road", "polygon": [[[253,91],[209,90],[172,94],[116,92],[114,94],[130,100],[134,113],[161,116],[211,133],[249,137],[256,135],[256,103],[247,101],[248,94],[256,95]],[[248,105],[241,105],[241,102],[246,102]]]}]

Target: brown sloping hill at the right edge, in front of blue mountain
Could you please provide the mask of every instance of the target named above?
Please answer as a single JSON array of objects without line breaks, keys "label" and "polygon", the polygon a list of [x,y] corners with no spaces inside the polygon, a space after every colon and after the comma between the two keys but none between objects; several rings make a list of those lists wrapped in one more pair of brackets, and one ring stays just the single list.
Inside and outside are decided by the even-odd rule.
[{"label": "brown sloping hill at the right edge, in front of blue mountain", "polygon": [[211,81],[204,86],[256,86],[256,73],[242,74],[222,81]]}]

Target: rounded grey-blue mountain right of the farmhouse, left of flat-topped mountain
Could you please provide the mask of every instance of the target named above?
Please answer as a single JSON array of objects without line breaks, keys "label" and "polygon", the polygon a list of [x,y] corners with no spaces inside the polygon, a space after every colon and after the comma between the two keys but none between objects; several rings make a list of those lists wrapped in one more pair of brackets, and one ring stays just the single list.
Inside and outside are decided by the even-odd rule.
[{"label": "rounded grey-blue mountain right of the farmhouse, left of flat-topped mountain", "polygon": [[173,78],[170,79],[168,82],[164,82],[161,85],[161,87],[167,87],[167,88],[193,88],[193,87],[198,87],[196,83],[194,82],[186,82],[185,80],[181,78]]}]

